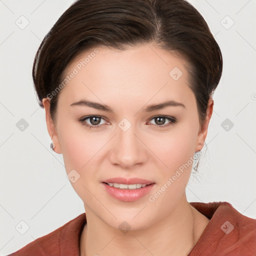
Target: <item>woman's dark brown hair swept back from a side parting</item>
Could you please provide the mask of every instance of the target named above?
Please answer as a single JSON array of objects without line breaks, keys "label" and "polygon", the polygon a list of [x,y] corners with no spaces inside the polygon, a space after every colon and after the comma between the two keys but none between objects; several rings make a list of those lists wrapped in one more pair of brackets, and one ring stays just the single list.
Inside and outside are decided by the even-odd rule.
[{"label": "woman's dark brown hair swept back from a side parting", "polygon": [[[43,38],[33,63],[42,105],[61,83],[68,63],[96,46],[125,49],[153,42],[188,61],[200,124],[222,73],[221,51],[201,14],[185,0],[77,0]],[[54,120],[60,93],[50,98]]]}]

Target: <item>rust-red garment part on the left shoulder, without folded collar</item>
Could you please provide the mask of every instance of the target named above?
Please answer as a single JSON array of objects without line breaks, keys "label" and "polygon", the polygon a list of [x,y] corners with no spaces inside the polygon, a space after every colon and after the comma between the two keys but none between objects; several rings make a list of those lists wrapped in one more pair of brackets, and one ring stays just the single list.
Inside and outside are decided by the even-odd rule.
[{"label": "rust-red garment part on the left shoulder, without folded collar", "polygon": [[[35,239],[7,256],[63,255],[61,251],[79,253],[79,238],[85,223],[86,216],[85,213],[82,213],[54,231]],[[72,255],[76,254],[72,253]]]}]

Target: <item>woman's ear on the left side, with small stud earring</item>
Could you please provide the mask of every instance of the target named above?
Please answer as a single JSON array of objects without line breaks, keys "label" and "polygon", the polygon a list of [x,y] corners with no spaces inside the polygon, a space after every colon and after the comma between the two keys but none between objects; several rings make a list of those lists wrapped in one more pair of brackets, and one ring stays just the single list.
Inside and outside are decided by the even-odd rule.
[{"label": "woman's ear on the left side, with small stud earring", "polygon": [[61,154],[61,148],[60,148],[60,144],[59,144],[59,139],[58,139],[58,134],[57,131],[55,130],[55,124],[50,116],[50,101],[48,98],[43,98],[42,99],[42,104],[44,106],[45,109],[45,119],[46,119],[46,125],[47,125],[47,130],[48,133],[51,137],[52,143],[55,146],[54,147],[54,151],[56,153]]}]

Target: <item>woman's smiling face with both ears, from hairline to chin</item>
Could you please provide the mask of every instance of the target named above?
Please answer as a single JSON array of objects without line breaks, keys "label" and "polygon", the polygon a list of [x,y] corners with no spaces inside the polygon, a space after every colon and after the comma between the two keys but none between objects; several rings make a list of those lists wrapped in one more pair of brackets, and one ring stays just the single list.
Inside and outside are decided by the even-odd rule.
[{"label": "woman's smiling face with both ears, from hairline to chin", "polygon": [[[199,129],[185,64],[144,44],[98,47],[68,65],[52,141],[90,216],[114,228],[141,229],[184,202],[193,155],[207,133],[207,125]],[[53,124],[47,127],[51,135]],[[127,190],[103,181],[151,185]]]}]

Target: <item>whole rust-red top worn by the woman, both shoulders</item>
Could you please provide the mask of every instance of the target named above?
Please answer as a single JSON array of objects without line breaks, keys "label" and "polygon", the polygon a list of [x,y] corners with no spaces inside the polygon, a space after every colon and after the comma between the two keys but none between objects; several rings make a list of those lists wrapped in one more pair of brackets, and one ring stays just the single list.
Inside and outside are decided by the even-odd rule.
[{"label": "whole rust-red top worn by the woman, both shoulders", "polygon": [[[230,203],[190,202],[210,219],[188,256],[255,256],[256,219],[239,213]],[[79,256],[85,212],[8,256]]]}]

